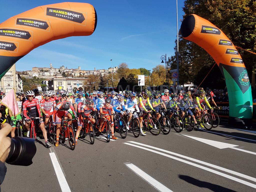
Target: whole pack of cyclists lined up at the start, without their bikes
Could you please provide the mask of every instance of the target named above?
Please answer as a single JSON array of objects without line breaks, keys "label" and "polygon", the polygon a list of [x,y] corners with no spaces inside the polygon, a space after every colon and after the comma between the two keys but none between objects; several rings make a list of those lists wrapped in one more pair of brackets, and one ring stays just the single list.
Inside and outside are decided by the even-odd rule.
[{"label": "whole pack of cyclists lined up at the start, without their bikes", "polygon": [[[131,129],[131,119],[138,119],[140,135],[146,136],[142,123],[143,115],[147,114],[151,117],[152,114],[154,114],[155,118],[159,120],[161,118],[160,110],[168,110],[168,118],[171,118],[172,115],[177,112],[180,112],[180,116],[183,117],[186,109],[187,113],[193,117],[197,129],[203,130],[204,126],[199,120],[201,112],[205,108],[212,109],[209,101],[213,102],[217,107],[213,100],[214,94],[210,89],[207,88],[206,90],[207,97],[204,90],[199,90],[198,94],[193,98],[189,91],[181,91],[179,94],[176,94],[168,89],[163,90],[162,93],[157,90],[145,90],[140,93],[129,90],[120,93],[116,93],[115,91],[109,93],[101,91],[83,93],[77,91],[76,94],[62,91],[58,95],[52,90],[42,94],[38,89],[34,89],[25,93],[16,92],[17,104],[20,111],[22,111],[19,115],[14,116],[11,111],[3,110],[3,105],[1,106],[2,111],[0,111],[2,113],[5,111],[6,116],[9,115],[10,117],[13,127],[11,137],[15,136],[16,123],[18,121],[25,127],[27,130],[26,136],[29,137],[31,135],[31,119],[33,119],[41,130],[40,136],[45,140],[45,147],[50,148],[51,145],[48,142],[46,129],[48,122],[51,120],[52,124],[56,126],[55,146],[58,147],[61,120],[63,117],[66,120],[68,119],[68,123],[75,127],[76,136],[73,145],[77,144],[80,131],[83,128],[84,119],[90,120],[94,125],[94,129],[97,129],[99,133],[103,131],[103,123],[106,120],[109,121],[111,138],[116,140],[117,137],[114,135],[114,113],[119,114],[120,118],[126,116],[127,131]],[[97,118],[95,118],[96,116]],[[92,129],[92,127],[90,127],[90,129]],[[180,129],[182,129],[182,127],[180,127]],[[167,132],[167,130],[163,129],[163,132]],[[37,139],[39,138],[37,137]]]}]

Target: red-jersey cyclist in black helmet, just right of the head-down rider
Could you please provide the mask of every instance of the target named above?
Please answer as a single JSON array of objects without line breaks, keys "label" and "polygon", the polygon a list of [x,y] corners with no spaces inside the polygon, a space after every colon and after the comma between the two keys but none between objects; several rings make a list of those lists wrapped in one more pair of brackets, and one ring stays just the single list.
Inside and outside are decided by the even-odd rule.
[{"label": "red-jersey cyclist in black helmet, just right of the head-down rider", "polygon": [[[83,120],[84,118],[89,119],[91,121],[92,124],[95,123],[95,119],[92,118],[93,115],[95,115],[97,113],[96,109],[93,108],[94,106],[94,102],[92,99],[84,99],[83,102],[81,102],[82,105],[80,107],[78,107],[78,111],[79,111],[79,123],[78,123],[78,129],[76,132],[76,144],[77,144],[77,139],[78,136],[80,134],[80,131],[83,127]],[[79,103],[78,106],[81,104]],[[80,109],[79,109],[80,108]],[[91,114],[92,113],[92,114]],[[86,130],[87,132],[88,130]],[[92,131],[92,129],[91,129]]]}]

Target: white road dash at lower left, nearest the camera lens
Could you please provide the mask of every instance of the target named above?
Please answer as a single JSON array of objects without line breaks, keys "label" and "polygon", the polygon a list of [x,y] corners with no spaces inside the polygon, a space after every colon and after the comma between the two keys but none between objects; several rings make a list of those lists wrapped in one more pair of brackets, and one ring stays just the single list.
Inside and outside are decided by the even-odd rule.
[{"label": "white road dash at lower left, nearest the camera lens", "polygon": [[50,154],[50,157],[51,157],[51,162],[52,162],[52,165],[54,167],[57,179],[58,179],[59,184],[60,184],[61,191],[62,192],[71,192],[71,190],[68,186],[67,180],[66,180],[66,178],[65,178],[65,176],[64,176],[64,174],[61,170],[60,164],[58,162],[58,159],[57,159],[55,153],[51,152],[49,154]]}]

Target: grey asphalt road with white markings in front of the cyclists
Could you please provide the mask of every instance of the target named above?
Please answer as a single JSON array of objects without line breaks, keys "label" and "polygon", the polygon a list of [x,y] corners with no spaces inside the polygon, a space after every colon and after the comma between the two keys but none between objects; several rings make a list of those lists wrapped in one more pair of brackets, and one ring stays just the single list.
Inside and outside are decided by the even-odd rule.
[{"label": "grey asphalt road with white markings in front of the cyclists", "polygon": [[32,165],[6,165],[1,189],[256,191],[256,130],[250,131],[222,125],[211,131],[171,130],[158,136],[148,132],[138,138],[128,132],[125,139],[106,143],[98,138],[93,145],[87,136],[74,151],[65,145],[46,149],[36,143]]}]

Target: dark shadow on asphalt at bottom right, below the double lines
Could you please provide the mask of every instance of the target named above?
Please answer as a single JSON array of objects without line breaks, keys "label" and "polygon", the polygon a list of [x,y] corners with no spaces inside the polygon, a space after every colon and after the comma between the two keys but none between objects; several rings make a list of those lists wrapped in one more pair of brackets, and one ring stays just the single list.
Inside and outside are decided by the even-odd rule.
[{"label": "dark shadow on asphalt at bottom right, below the double lines", "polygon": [[212,183],[209,183],[209,182],[205,182],[205,181],[200,181],[198,179],[195,179],[193,177],[189,177],[187,175],[179,175],[179,178],[190,183],[190,184],[193,184],[195,186],[198,186],[198,187],[203,187],[203,188],[207,188],[207,189],[210,189],[211,191],[216,191],[216,192],[237,192],[237,191],[234,191],[232,189],[228,189],[226,187],[222,187],[220,185],[216,185],[216,184],[212,184]]}]

